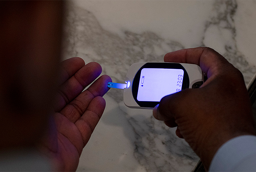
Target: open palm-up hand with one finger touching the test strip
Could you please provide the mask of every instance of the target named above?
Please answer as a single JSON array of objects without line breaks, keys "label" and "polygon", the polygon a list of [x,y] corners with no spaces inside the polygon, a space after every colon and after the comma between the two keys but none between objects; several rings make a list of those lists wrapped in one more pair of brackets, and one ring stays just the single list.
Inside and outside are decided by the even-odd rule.
[{"label": "open palm-up hand with one finger touching the test strip", "polygon": [[50,157],[54,171],[75,171],[82,150],[103,114],[102,96],[108,91],[111,79],[102,75],[82,92],[100,75],[100,65],[96,62],[85,65],[83,59],[75,57],[62,62],[62,66],[56,113],[41,150]]}]

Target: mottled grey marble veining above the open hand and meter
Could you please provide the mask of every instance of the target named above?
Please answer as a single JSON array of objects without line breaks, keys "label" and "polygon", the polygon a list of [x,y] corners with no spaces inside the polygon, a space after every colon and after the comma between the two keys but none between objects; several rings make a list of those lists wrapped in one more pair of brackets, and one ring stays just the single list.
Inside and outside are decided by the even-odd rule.
[{"label": "mottled grey marble veining above the open hand and meter", "polygon": [[[161,62],[164,54],[184,48],[177,41],[164,40],[148,31],[141,34],[124,31],[123,39],[104,30],[91,12],[79,7],[71,10],[67,19],[66,58],[81,56],[88,62],[97,61],[113,82],[123,83],[133,63]],[[111,92],[109,95],[115,100],[123,100],[123,90],[112,89]]]}]

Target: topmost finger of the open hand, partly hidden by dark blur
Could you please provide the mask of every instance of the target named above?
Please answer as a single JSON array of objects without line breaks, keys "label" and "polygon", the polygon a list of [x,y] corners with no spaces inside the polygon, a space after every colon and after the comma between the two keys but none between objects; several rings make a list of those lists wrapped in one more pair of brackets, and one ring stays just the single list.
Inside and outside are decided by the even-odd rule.
[{"label": "topmost finger of the open hand, partly hidden by dark blur", "polygon": [[85,62],[80,57],[73,57],[61,62],[60,84],[72,77],[79,69],[85,66]]}]

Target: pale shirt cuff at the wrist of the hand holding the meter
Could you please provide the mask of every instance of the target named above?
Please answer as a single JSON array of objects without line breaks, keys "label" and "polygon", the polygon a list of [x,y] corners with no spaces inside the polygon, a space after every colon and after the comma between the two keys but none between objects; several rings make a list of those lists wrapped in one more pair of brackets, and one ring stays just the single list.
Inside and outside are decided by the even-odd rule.
[{"label": "pale shirt cuff at the wrist of the hand holding the meter", "polygon": [[209,171],[256,171],[256,136],[227,141],[216,152]]}]

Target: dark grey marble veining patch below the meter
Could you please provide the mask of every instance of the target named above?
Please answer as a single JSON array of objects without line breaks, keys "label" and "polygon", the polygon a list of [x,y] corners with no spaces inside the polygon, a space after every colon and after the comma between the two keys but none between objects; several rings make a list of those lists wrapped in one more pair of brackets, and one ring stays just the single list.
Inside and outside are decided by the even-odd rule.
[{"label": "dark grey marble veining patch below the meter", "polygon": [[[193,166],[198,160],[188,145],[170,134],[162,122],[152,116],[149,119],[128,120],[133,126],[136,139],[134,157],[146,171],[179,171],[184,162]],[[179,145],[178,149],[176,145]]]}]

